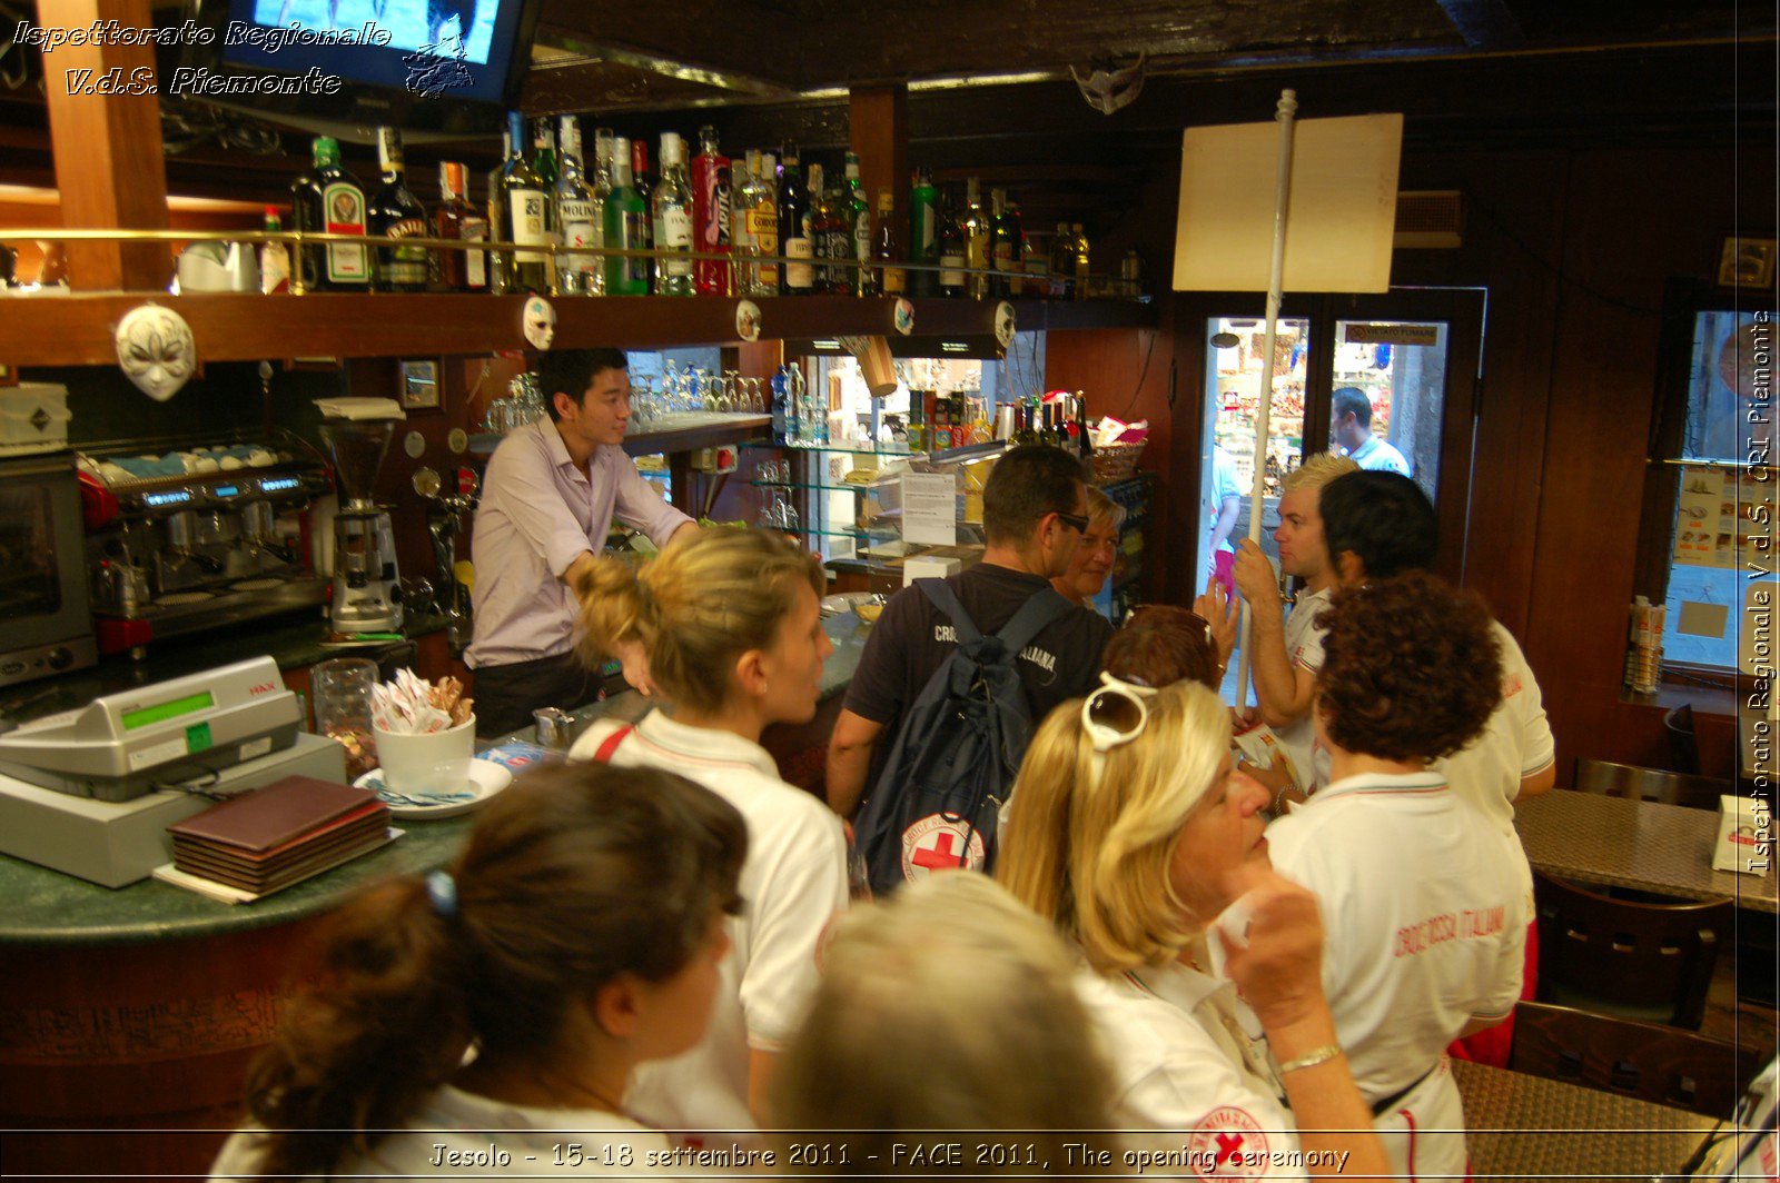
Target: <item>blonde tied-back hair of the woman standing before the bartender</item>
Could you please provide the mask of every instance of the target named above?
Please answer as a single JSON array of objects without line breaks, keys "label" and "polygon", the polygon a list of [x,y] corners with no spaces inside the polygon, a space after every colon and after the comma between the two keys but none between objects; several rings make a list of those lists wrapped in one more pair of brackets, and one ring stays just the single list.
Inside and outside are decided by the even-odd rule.
[{"label": "blonde tied-back hair of the woman standing before the bartender", "polygon": [[735,660],[773,644],[797,585],[828,589],[822,560],[771,530],[717,527],[675,537],[641,567],[605,557],[580,578],[582,660],[641,642],[650,678],[694,710],[724,704]]}]

